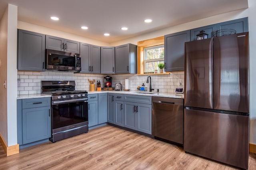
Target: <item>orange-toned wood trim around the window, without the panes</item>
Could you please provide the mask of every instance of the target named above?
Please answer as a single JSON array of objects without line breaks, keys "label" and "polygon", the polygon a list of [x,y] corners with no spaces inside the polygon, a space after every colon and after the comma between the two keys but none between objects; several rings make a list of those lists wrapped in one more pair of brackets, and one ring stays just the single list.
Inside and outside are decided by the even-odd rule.
[{"label": "orange-toned wood trim around the window, without the panes", "polygon": [[164,36],[138,42],[138,75],[144,75],[144,48],[157,45],[164,45]]}]

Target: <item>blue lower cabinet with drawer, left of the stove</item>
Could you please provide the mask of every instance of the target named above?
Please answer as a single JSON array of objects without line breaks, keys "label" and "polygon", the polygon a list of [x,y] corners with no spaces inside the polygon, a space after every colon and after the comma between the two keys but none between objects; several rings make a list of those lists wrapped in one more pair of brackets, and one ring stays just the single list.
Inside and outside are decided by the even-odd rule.
[{"label": "blue lower cabinet with drawer, left of the stove", "polygon": [[17,100],[17,140],[20,148],[49,141],[51,98]]}]

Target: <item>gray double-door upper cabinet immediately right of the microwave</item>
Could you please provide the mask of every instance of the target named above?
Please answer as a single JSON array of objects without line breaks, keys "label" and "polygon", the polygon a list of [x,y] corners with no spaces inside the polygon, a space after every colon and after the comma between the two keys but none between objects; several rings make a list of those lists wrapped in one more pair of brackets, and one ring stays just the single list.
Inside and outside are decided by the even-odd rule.
[{"label": "gray double-door upper cabinet immediately right of the microwave", "polygon": [[100,73],[100,46],[80,43],[80,73]]}]

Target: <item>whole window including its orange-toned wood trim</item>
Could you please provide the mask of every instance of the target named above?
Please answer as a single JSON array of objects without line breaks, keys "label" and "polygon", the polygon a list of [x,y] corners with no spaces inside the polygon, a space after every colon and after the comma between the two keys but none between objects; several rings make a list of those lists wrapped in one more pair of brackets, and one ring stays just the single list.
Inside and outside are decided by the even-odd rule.
[{"label": "whole window including its orange-toned wood trim", "polygon": [[138,42],[138,75],[153,72],[164,63],[164,36]]}]

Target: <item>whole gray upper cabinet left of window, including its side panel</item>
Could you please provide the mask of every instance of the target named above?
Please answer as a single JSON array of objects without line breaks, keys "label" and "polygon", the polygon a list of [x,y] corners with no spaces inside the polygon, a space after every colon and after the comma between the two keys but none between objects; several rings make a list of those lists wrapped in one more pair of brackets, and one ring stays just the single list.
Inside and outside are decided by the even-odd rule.
[{"label": "whole gray upper cabinet left of window, including its side panel", "polygon": [[128,43],[115,47],[116,74],[137,73],[137,45]]}]

